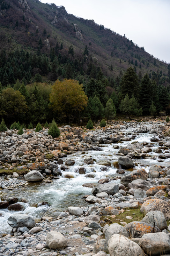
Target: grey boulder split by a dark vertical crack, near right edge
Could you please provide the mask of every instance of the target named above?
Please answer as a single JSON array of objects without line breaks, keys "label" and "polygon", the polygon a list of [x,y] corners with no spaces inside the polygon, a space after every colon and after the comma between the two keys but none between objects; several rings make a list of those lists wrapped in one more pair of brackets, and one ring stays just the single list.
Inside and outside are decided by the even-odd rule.
[{"label": "grey boulder split by a dark vertical crack, near right edge", "polygon": [[165,216],[160,211],[146,213],[146,215],[144,216],[144,218],[141,221],[146,222],[152,226],[155,225],[158,228],[160,228],[160,230],[167,229],[167,223],[166,223]]}]

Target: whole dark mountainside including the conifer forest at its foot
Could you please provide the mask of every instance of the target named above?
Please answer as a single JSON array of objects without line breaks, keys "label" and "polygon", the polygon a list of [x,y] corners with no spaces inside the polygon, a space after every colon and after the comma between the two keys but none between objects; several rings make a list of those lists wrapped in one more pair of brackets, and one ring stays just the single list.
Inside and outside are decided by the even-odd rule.
[{"label": "whole dark mountainside including the conifer forest at its foot", "polygon": [[[63,88],[59,108],[69,112],[65,121],[109,119],[115,111],[127,116],[170,111],[170,64],[125,35],[68,14],[64,6],[0,0],[0,42],[0,117],[8,124],[61,122],[50,94],[57,79],[55,85]],[[77,114],[65,106],[63,84],[72,80],[78,88],[83,84],[88,98]]]}]

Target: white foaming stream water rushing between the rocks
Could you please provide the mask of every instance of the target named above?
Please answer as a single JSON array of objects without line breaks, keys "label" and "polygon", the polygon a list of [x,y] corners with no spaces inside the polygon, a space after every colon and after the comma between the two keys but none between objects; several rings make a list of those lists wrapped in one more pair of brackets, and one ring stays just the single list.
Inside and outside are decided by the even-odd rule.
[{"label": "white foaming stream water rushing between the rocks", "polygon": [[[150,139],[152,137],[153,134],[139,133],[135,140],[125,141],[123,144],[116,143],[116,145],[125,147],[127,144],[133,141],[138,141],[139,143],[151,142]],[[133,160],[134,162],[138,163],[137,169],[142,167],[148,172],[150,165],[159,164],[159,154],[154,152],[154,149],[156,149],[159,144],[157,142],[152,142],[152,144],[154,147],[152,147],[152,152],[149,153],[152,158],[150,157],[148,159]],[[20,203],[25,207],[23,213],[29,214],[33,218],[40,218],[44,215],[53,216],[55,212],[65,211],[69,206],[87,205],[88,203],[86,203],[82,196],[91,194],[92,188],[83,187],[82,185],[84,183],[97,183],[98,180],[102,178],[114,178],[115,176],[121,176],[120,174],[116,173],[117,168],[113,166],[113,162],[118,161],[119,157],[116,155],[119,149],[114,149],[113,145],[115,144],[103,144],[102,151],[87,151],[84,153],[79,151],[69,155],[69,158],[75,160],[75,165],[70,166],[69,171],[67,172],[62,171],[62,176],[59,178],[59,180],[53,180],[52,183],[29,183],[27,187],[21,187],[17,188],[16,190],[8,190],[3,192],[5,192],[7,196],[16,196],[18,199],[26,198],[28,203]],[[91,156],[93,159],[95,159],[94,164],[84,164],[84,159],[86,156]],[[63,158],[63,161],[64,160],[66,159]],[[100,170],[102,166],[97,164],[97,162],[101,160],[109,160],[111,162],[112,166],[108,171]],[[168,166],[169,159],[164,159],[163,165]],[[75,170],[79,166],[84,166],[86,169],[86,174],[92,173],[95,176],[94,179],[87,178],[84,174],[76,173]],[[72,174],[74,178],[63,178],[63,175],[67,173]],[[129,171],[125,171],[125,174],[127,173],[129,173]],[[120,182],[120,180],[114,180],[113,182]],[[35,205],[41,201],[47,201],[50,206],[41,206],[38,208],[35,207]],[[7,224],[7,220],[14,212],[10,212],[8,209],[0,209],[0,213],[2,214],[2,217],[0,217],[0,233],[8,233],[10,232],[11,227]]]}]

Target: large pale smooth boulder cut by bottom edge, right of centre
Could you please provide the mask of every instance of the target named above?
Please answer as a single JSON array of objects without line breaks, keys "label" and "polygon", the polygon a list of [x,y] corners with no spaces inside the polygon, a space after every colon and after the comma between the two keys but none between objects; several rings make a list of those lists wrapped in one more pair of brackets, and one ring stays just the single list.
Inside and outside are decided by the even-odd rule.
[{"label": "large pale smooth boulder cut by bottom edge, right of centre", "polygon": [[141,247],[127,237],[114,234],[108,241],[110,256],[144,256]]}]

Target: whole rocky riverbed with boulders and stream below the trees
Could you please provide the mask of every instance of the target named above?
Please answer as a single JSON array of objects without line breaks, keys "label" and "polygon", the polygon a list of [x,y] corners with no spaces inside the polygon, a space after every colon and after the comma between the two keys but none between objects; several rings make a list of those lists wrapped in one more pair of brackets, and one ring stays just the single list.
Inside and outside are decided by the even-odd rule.
[{"label": "whole rocky riverbed with boulders and stream below the trees", "polygon": [[170,124],[0,133],[0,255],[168,255]]}]

